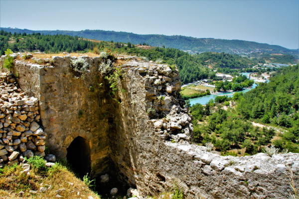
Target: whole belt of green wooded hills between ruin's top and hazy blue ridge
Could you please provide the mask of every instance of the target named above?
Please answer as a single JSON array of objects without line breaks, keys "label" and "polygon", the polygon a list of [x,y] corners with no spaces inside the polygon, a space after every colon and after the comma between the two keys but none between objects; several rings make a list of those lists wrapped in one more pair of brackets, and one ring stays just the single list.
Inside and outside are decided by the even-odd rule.
[{"label": "whole belt of green wooded hills between ruin's top and hazy blue ridge", "polygon": [[238,72],[241,72],[242,69],[252,71],[252,66],[257,64],[257,62],[247,57],[228,53],[205,52],[198,55],[190,55],[175,48],[152,47],[146,43],[144,44],[134,45],[131,42],[88,40],[78,36],[62,34],[44,35],[40,33],[26,34],[24,32],[9,33],[3,30],[0,31],[0,54],[4,54],[7,48],[13,52],[41,51],[46,53],[84,53],[90,51],[99,53],[108,50],[115,54],[137,55],[148,61],[157,61],[177,67],[181,81],[184,84],[202,78],[215,78],[215,72],[210,71],[207,66],[213,69],[217,68],[218,72],[239,75]]}]

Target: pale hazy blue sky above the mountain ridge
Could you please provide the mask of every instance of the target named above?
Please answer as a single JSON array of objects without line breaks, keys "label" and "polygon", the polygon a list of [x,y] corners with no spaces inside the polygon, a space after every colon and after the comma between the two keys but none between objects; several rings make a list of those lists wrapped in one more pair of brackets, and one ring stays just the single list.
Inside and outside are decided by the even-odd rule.
[{"label": "pale hazy blue sky above the mountain ridge", "polygon": [[0,0],[0,26],[241,39],[299,48],[299,0]]}]

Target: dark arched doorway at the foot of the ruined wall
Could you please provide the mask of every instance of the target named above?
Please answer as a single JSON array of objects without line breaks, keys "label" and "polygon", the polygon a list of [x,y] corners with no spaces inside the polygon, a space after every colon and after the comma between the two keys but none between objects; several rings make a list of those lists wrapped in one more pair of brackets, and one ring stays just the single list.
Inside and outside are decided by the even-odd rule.
[{"label": "dark arched doorway at the foot of the ruined wall", "polygon": [[88,142],[80,136],[75,138],[67,148],[66,159],[71,164],[74,172],[79,174],[79,177],[82,178],[90,173],[91,162]]}]

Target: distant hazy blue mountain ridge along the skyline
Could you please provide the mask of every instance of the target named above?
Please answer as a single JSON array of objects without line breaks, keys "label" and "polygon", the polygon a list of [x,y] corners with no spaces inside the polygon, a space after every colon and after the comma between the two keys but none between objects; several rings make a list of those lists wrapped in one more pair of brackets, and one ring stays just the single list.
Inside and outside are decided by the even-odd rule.
[{"label": "distant hazy blue mountain ridge along the skyline", "polygon": [[40,32],[43,34],[67,34],[71,36],[79,36],[88,39],[97,39],[115,42],[131,42],[133,44],[148,43],[152,46],[165,46],[178,48],[180,50],[191,50],[193,52],[227,52],[233,54],[246,54],[250,52],[267,52],[267,53],[287,53],[298,55],[298,49],[288,49],[279,45],[270,45],[267,43],[258,43],[245,40],[227,40],[214,38],[195,38],[181,35],[166,36],[160,34],[135,34],[130,32],[116,32],[108,30],[29,30],[18,28],[0,27],[7,32],[17,33],[33,33]]}]

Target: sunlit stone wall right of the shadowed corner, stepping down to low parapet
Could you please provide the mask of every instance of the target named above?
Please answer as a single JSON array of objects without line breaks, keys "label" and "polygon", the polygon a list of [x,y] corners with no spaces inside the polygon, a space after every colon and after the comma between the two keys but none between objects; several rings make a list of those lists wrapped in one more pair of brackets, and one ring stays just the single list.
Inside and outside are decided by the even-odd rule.
[{"label": "sunlit stone wall right of the shadowed corner, stepping down to low parapet", "polygon": [[191,145],[177,72],[136,61],[124,67],[127,92],[120,94],[111,157],[144,195],[176,184],[188,199],[291,198],[288,176],[294,174],[298,188],[299,154],[222,157]]}]

